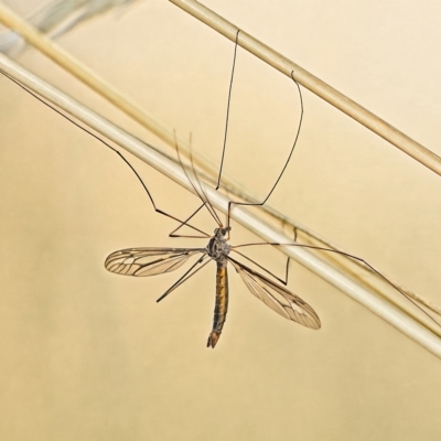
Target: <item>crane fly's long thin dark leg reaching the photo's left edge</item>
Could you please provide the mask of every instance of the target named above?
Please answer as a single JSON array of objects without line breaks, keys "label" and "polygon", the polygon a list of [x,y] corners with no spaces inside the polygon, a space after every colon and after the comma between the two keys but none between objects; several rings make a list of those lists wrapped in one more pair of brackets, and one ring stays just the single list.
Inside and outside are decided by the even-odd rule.
[{"label": "crane fly's long thin dark leg reaching the photo's left edge", "polygon": [[[20,86],[23,90],[25,90],[28,94],[32,95],[34,98],[36,98],[40,103],[44,104],[45,106],[47,106],[49,108],[51,108],[52,110],[54,110],[55,112],[57,112],[60,116],[62,116],[63,118],[67,119],[69,122],[72,122],[73,125],[75,125],[76,127],[78,127],[79,129],[82,129],[83,131],[85,131],[86,133],[90,135],[92,137],[94,137],[95,139],[97,139],[99,142],[101,142],[103,144],[105,144],[106,147],[108,147],[110,150],[112,150],[116,154],[118,154],[119,158],[121,158],[121,160],[130,168],[130,170],[135,173],[135,175],[137,176],[138,181],[141,183],[142,187],[144,189],[152,206],[153,209],[159,213],[162,214],[165,217],[169,217],[173,220],[178,220],[179,223],[181,223],[181,225],[186,225],[187,227],[196,230],[197,233],[201,233],[203,236],[171,236],[171,237],[195,237],[195,238],[201,238],[201,237],[211,237],[211,235],[208,235],[207,233],[204,233],[203,230],[194,227],[193,225],[190,225],[187,223],[189,219],[186,220],[181,220],[178,217],[165,213],[164,211],[160,209],[157,207],[157,204],[153,201],[153,197],[149,191],[149,189],[147,187],[147,185],[144,184],[144,182],[142,181],[141,176],[138,174],[138,172],[135,170],[135,168],[131,165],[131,163],[122,155],[122,153],[120,153],[117,149],[112,148],[109,143],[107,143],[106,141],[104,141],[101,138],[99,138],[97,135],[93,133],[92,131],[87,130],[85,127],[80,126],[78,122],[74,121],[72,118],[69,118],[68,116],[64,115],[62,111],[60,111],[58,109],[56,109],[55,107],[53,107],[52,105],[50,105],[49,103],[46,103],[44,99],[42,99],[41,97],[39,97],[36,94],[34,94],[32,90],[28,89],[26,87],[24,87],[22,84],[20,84],[18,80],[15,80],[14,78],[10,77],[6,72],[1,71],[0,72],[10,80],[12,80],[13,83],[15,83],[18,86]],[[149,146],[149,144],[148,144]],[[149,146],[150,147],[150,146]]]}]

